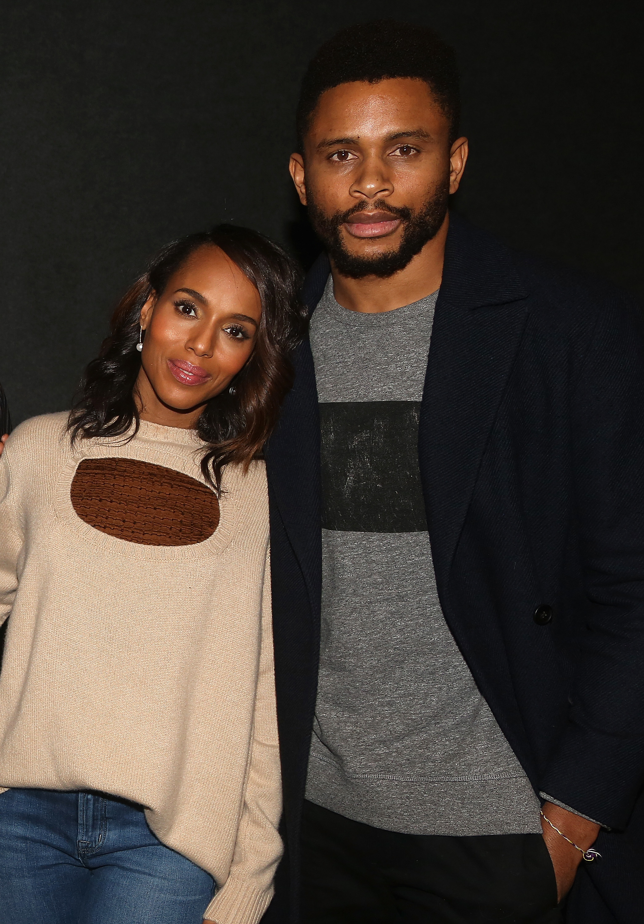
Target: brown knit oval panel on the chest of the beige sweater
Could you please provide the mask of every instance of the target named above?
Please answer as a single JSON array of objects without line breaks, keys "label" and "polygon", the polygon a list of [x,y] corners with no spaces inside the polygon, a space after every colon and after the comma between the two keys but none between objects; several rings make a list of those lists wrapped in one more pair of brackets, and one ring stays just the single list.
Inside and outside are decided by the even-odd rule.
[{"label": "brown knit oval panel on the chest of the beige sweater", "polygon": [[210,488],[139,459],[84,459],[70,494],[81,520],[141,545],[194,545],[219,526],[219,502]]}]

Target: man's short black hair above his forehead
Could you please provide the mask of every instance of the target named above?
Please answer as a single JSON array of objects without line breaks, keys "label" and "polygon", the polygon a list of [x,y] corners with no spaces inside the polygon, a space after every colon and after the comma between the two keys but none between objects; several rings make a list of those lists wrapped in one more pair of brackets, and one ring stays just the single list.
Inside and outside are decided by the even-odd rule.
[{"label": "man's short black hair above his forehead", "polygon": [[460,90],[454,49],[425,26],[374,19],[336,32],[310,62],[299,93],[300,152],[310,116],[324,91],[356,80],[378,83],[395,77],[416,78],[429,85],[450,121],[450,140],[455,140]]}]

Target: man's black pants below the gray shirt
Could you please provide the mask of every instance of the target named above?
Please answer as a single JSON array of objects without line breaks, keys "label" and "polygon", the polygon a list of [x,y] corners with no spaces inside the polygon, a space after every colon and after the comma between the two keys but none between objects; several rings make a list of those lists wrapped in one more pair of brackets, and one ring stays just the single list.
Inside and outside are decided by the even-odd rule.
[{"label": "man's black pants below the gray shirt", "polygon": [[558,924],[541,834],[400,834],[305,802],[302,924]]}]

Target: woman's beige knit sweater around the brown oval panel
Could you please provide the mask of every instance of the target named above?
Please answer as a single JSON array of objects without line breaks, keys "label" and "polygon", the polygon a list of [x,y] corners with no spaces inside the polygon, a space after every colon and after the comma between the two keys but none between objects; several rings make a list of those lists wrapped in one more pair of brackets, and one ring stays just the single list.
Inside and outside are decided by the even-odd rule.
[{"label": "woman's beige knit sweater around the brown oval panel", "polygon": [[79,462],[201,480],[200,444],[142,422],[130,443],[72,451],[66,422],[26,421],[0,458],[0,786],[139,803],[165,845],[213,875],[205,917],[256,924],[282,853],[263,463],[226,471],[205,541],[125,541],[76,514]]}]

